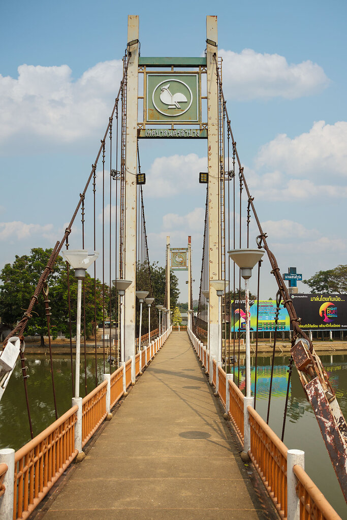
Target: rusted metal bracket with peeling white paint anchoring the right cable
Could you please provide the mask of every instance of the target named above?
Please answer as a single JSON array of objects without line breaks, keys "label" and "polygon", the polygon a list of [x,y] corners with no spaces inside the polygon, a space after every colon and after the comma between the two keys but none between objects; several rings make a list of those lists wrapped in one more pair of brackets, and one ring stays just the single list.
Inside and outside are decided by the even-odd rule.
[{"label": "rusted metal bracket with peeling white paint anchoring the right cable", "polygon": [[309,346],[308,341],[297,340],[290,352],[347,501],[347,424],[329,383],[328,374],[314,350],[310,352]]}]

